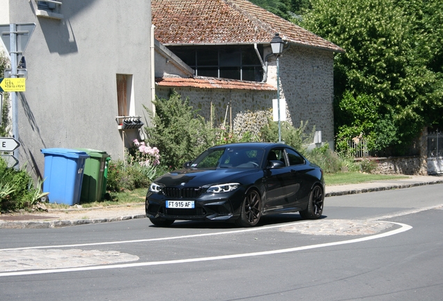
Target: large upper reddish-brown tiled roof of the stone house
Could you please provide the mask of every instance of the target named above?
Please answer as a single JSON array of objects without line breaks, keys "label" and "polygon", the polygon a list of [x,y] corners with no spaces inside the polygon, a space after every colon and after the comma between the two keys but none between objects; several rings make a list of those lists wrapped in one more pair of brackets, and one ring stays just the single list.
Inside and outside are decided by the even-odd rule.
[{"label": "large upper reddish-brown tiled roof of the stone house", "polygon": [[164,45],[270,43],[344,50],[247,0],[151,0],[155,38]]}]

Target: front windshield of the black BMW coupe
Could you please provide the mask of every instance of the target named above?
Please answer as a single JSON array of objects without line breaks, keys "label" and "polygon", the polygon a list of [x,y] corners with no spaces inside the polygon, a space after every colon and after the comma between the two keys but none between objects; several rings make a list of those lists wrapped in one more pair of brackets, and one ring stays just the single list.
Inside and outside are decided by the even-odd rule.
[{"label": "front windshield of the black BMW coupe", "polygon": [[192,168],[244,168],[260,166],[263,158],[262,148],[226,147],[214,148],[203,152],[192,162]]}]

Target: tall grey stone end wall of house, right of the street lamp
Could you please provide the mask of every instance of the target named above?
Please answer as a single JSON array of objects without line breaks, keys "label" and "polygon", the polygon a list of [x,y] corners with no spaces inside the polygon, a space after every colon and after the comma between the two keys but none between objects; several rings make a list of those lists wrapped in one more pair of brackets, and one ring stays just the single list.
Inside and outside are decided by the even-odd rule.
[{"label": "tall grey stone end wall of house, right of the street lamp", "polygon": [[293,124],[307,121],[307,131],[315,126],[322,131],[322,141],[334,149],[334,54],[291,45],[283,51],[279,69],[281,98],[286,99]]}]

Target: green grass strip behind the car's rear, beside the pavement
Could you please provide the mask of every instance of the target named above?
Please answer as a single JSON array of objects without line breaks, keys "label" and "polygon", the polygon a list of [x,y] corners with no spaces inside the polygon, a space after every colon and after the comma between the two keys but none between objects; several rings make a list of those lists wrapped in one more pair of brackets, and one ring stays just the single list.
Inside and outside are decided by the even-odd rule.
[{"label": "green grass strip behind the car's rear, beside the pavement", "polygon": [[375,180],[392,180],[400,178],[409,178],[408,176],[378,175],[372,173],[345,172],[345,173],[326,173],[326,185],[345,185],[371,182]]}]

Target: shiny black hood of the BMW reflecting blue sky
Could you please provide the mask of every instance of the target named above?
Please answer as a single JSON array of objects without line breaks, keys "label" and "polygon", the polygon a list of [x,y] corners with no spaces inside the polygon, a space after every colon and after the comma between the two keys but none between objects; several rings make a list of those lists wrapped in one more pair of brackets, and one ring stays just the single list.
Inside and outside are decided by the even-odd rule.
[{"label": "shiny black hood of the BMW reflecting blue sky", "polygon": [[154,180],[168,187],[202,187],[205,185],[231,183],[242,176],[260,173],[261,169],[180,169],[165,173]]}]

